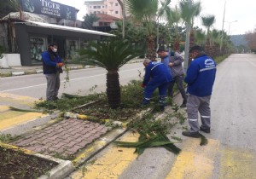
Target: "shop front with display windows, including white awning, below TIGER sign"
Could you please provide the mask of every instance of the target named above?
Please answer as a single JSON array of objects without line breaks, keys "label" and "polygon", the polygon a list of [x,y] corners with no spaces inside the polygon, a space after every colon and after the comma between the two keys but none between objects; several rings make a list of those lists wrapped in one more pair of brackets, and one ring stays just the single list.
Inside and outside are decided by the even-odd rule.
[{"label": "shop front with display windows, including white awning, below TIGER sign", "polygon": [[51,42],[58,44],[58,53],[61,58],[72,62],[79,58],[78,50],[84,48],[86,42],[113,36],[105,32],[29,20],[15,23],[15,34],[20,47],[22,66],[42,64],[41,54]]}]

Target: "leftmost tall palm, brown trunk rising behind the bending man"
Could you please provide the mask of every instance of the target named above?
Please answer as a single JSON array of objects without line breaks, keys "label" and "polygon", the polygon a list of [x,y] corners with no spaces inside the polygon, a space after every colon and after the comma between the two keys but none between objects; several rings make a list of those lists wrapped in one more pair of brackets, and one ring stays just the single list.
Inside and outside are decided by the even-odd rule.
[{"label": "leftmost tall palm, brown trunk rising behind the bending man", "polygon": [[158,0],[125,0],[125,3],[131,13],[131,17],[137,22],[145,24],[147,29],[147,55],[150,60],[154,60],[155,22],[159,22],[160,17],[165,14],[165,10],[171,0],[160,1],[162,5],[160,9]]}]

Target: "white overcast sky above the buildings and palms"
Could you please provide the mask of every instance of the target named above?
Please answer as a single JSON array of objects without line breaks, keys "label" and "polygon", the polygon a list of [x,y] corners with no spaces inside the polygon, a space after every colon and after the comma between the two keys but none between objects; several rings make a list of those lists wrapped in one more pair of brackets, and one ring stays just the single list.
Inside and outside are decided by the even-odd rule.
[{"label": "white overcast sky above the buildings and palms", "polygon": [[[86,14],[84,0],[52,0],[79,9],[78,20],[83,20]],[[178,0],[172,0],[171,7],[175,7]],[[198,2],[198,0],[195,0]],[[225,4],[225,15],[224,15]],[[254,0],[201,0],[201,15],[215,15],[213,28],[222,30],[228,35],[244,34],[256,29],[256,1]],[[195,20],[195,26],[201,26],[201,18]],[[206,30],[206,29],[205,29]]]}]

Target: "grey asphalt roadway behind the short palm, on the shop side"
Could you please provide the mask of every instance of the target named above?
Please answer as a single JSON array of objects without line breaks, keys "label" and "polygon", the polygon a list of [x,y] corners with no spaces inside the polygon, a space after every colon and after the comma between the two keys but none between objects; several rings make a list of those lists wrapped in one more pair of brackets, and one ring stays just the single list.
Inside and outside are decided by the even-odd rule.
[{"label": "grey asphalt roadway behind the short palm, on the shop side", "polygon": [[[120,84],[127,84],[131,79],[139,79],[143,73],[142,63],[126,64],[119,69]],[[65,83],[67,74],[61,74],[61,93],[84,95],[106,90],[107,71],[100,67],[69,71],[69,82]],[[32,74],[0,79],[0,92],[26,95],[45,99],[46,79],[43,74]],[[96,88],[95,88],[96,87]]]}]

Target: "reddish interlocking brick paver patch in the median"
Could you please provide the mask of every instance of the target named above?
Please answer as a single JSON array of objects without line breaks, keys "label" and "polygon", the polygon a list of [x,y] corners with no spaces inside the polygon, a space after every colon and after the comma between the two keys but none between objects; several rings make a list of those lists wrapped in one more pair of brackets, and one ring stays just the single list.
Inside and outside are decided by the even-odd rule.
[{"label": "reddish interlocking brick paver patch in the median", "polygon": [[44,130],[20,138],[11,144],[36,153],[73,155],[108,131],[105,125],[81,119],[64,119]]}]

